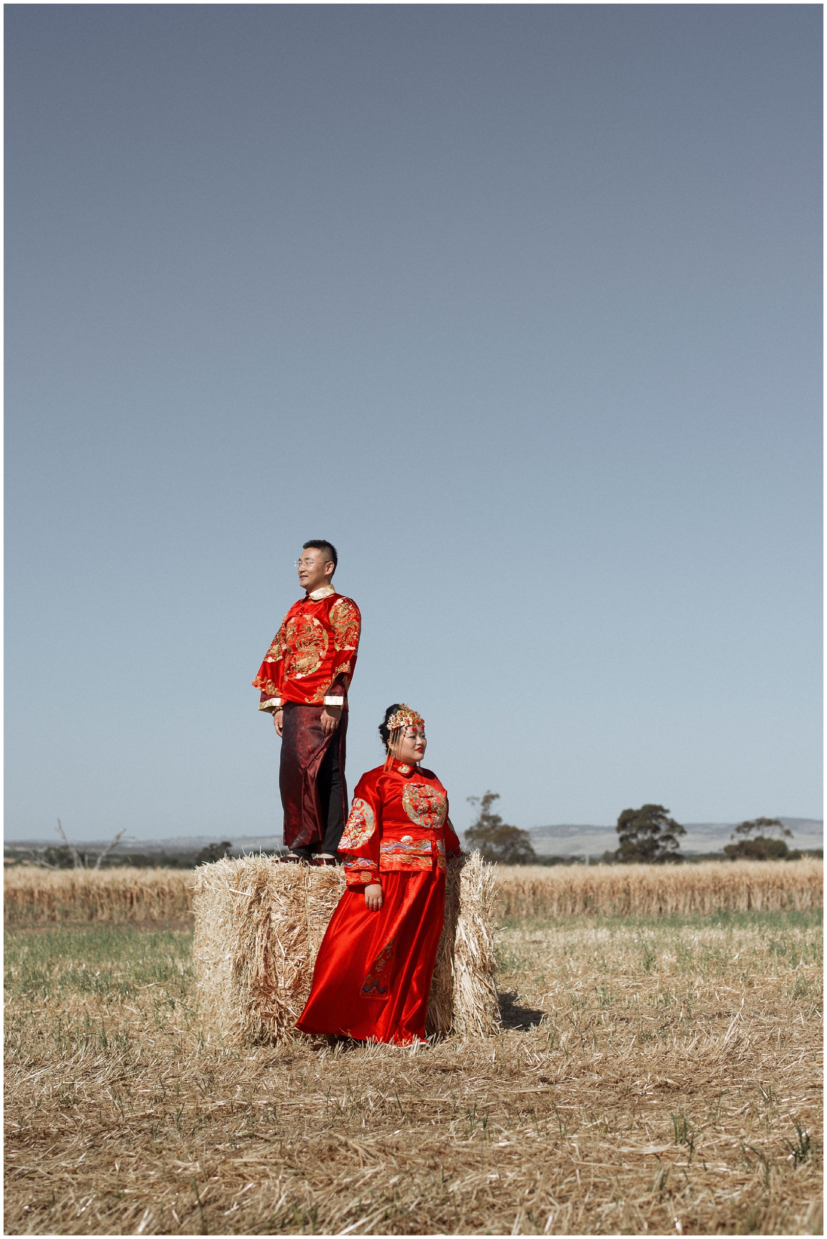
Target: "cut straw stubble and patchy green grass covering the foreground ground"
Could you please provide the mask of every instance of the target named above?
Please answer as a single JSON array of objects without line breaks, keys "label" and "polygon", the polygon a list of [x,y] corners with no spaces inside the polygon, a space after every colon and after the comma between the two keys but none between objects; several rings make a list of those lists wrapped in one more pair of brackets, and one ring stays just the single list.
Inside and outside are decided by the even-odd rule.
[{"label": "cut straw stubble and patchy green grass covering the foreground ground", "polygon": [[190,940],[7,934],[9,1233],[821,1233],[817,911],[506,928],[415,1052],[224,1046]]}]

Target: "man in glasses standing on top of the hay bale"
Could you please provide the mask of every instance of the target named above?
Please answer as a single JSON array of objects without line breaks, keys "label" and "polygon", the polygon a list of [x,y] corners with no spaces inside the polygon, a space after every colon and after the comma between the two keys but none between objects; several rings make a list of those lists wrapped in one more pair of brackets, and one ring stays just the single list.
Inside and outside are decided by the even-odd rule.
[{"label": "man in glasses standing on top of the hay bale", "polygon": [[253,680],[259,710],[281,736],[279,788],[290,862],[336,864],[347,819],[345,736],[362,617],[331,580],[332,543],[311,539],[296,561],[305,590],[288,611]]}]

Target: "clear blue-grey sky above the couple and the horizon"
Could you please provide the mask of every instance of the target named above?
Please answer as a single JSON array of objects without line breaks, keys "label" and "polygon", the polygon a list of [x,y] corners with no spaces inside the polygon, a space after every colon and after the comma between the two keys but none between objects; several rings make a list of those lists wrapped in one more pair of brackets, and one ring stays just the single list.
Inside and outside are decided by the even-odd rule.
[{"label": "clear blue-grey sky above the couple and the horizon", "polygon": [[507,821],[821,815],[820,5],[6,5],[6,824],[269,834],[306,538]]}]

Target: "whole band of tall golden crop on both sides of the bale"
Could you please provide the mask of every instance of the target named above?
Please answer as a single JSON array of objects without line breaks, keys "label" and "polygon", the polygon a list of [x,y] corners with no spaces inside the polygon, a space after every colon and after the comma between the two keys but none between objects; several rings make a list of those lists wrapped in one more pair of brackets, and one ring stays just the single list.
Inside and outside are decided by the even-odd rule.
[{"label": "whole band of tall golden crop on both sides of the bale", "polygon": [[[196,871],[197,872],[197,871]],[[6,924],[176,921],[192,916],[196,875],[186,870],[62,870],[15,867],[5,873]],[[648,866],[528,865],[497,871],[497,914],[662,916],[729,908],[777,912],[820,908],[823,864],[723,861]]]}]

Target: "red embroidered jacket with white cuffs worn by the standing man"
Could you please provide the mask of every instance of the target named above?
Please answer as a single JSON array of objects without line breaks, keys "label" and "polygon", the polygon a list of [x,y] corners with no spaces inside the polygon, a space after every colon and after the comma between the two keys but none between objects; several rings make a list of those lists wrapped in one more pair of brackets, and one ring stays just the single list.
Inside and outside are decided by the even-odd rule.
[{"label": "red embroidered jacket with white cuffs worn by the standing man", "polygon": [[330,585],[294,602],[253,680],[259,710],[274,714],[285,701],[347,709],[361,624],[353,600]]}]

